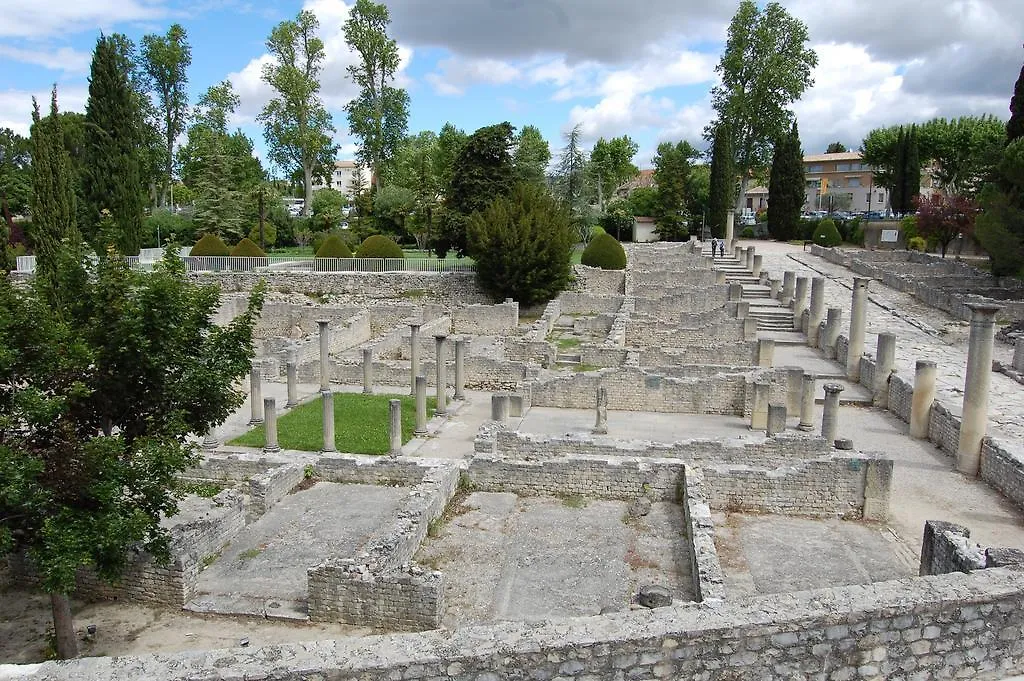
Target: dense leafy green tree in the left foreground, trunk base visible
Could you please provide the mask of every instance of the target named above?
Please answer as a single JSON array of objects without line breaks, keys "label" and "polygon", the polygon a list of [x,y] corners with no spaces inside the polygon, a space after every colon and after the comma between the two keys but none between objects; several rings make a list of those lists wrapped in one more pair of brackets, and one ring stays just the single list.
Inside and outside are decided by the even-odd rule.
[{"label": "dense leafy green tree in the left foreground, trunk base visible", "polygon": [[25,552],[50,596],[57,654],[76,655],[69,595],[88,567],[114,581],[133,548],[167,559],[186,441],[243,402],[262,291],[226,327],[216,287],[168,253],[152,273],[61,257],[55,307],[0,281],[0,554]]}]

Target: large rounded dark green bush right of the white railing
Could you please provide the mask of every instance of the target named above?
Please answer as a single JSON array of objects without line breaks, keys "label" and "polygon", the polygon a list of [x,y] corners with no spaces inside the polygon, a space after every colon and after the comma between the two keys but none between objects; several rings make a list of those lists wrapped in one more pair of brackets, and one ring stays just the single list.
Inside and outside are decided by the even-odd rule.
[{"label": "large rounded dark green bush right of the white railing", "polygon": [[522,305],[551,300],[568,284],[568,211],[535,183],[517,185],[469,218],[469,252],[480,287]]}]

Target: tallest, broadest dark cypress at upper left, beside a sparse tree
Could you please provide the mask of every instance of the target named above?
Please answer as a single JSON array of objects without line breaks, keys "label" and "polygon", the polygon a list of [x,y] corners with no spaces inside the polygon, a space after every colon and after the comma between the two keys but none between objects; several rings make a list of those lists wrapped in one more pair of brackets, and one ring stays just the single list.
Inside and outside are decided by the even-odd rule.
[{"label": "tallest, broadest dark cypress at upper left, beside a sparse tree", "polygon": [[89,72],[82,178],[86,238],[99,250],[105,247],[96,242],[101,211],[106,209],[113,215],[117,247],[125,255],[138,253],[142,228],[142,122],[131,68],[115,36],[100,36]]}]

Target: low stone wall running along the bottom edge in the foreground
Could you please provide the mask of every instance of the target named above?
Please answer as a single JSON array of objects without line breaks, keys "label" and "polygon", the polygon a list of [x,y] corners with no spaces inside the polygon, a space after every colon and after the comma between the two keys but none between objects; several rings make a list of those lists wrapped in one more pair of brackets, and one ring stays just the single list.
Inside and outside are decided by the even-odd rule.
[{"label": "low stone wall running along the bottom edge in the foreground", "polygon": [[996,568],[556,622],[232,648],[229,654],[87,657],[27,666],[13,678],[724,681],[727,670],[735,679],[912,673],[995,681],[1024,667],[1022,628],[1024,572]]}]

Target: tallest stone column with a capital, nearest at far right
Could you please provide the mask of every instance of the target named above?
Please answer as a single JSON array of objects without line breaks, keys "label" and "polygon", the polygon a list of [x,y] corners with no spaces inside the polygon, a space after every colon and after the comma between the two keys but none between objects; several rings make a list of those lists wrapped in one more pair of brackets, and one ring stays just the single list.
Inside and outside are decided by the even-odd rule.
[{"label": "tallest stone column with a capital, nearest at far right", "polygon": [[971,308],[971,337],[967,350],[961,436],[956,444],[956,469],[965,475],[977,476],[981,466],[981,440],[988,428],[988,386],[992,376],[995,313],[1001,306],[991,303],[968,303],[967,306]]}]

